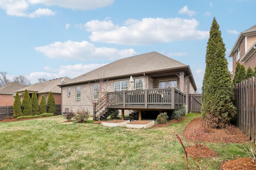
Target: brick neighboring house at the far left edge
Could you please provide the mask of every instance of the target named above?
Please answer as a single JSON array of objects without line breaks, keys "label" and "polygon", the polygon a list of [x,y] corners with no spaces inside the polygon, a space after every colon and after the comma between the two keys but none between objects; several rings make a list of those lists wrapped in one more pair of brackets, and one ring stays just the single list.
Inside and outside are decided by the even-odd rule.
[{"label": "brick neighboring house at the far left edge", "polygon": [[4,86],[0,86],[0,106],[13,106],[14,95],[17,90],[27,87],[28,85],[22,85],[18,82],[10,82]]}]

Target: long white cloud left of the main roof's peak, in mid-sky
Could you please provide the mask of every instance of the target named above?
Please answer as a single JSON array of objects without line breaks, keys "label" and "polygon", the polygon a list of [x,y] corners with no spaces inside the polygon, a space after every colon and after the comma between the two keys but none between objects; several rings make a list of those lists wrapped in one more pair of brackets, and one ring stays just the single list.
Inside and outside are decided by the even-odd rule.
[{"label": "long white cloud left of the main roof's peak, in mid-sky", "polygon": [[42,47],[36,47],[36,51],[43,53],[49,58],[89,60],[89,59],[121,59],[136,54],[134,49],[114,49],[107,47],[95,47],[88,41],[54,42]]}]

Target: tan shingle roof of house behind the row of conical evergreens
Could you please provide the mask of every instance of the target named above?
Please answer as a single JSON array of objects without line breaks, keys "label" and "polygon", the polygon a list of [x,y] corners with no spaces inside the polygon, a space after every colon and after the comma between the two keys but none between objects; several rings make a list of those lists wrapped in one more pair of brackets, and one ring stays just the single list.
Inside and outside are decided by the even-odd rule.
[{"label": "tan shingle roof of house behind the row of conical evergreens", "polygon": [[[67,82],[68,80],[71,80],[68,77],[60,78],[60,80],[63,80],[63,82]],[[28,90],[28,92],[36,92],[38,94],[40,93],[59,93],[61,94],[61,88],[58,86],[59,84],[62,84],[62,82],[59,80],[59,78],[48,80],[44,83],[35,83],[30,86],[27,86],[25,88],[19,89],[18,92],[24,92],[25,90]]]}]

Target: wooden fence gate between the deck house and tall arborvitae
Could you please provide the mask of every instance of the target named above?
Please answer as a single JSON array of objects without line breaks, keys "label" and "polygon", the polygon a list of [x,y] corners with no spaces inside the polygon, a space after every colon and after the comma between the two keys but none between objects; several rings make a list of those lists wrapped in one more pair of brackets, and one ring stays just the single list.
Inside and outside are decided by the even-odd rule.
[{"label": "wooden fence gate between the deck house and tall arborvitae", "polygon": [[201,112],[202,94],[189,94],[188,112]]}]

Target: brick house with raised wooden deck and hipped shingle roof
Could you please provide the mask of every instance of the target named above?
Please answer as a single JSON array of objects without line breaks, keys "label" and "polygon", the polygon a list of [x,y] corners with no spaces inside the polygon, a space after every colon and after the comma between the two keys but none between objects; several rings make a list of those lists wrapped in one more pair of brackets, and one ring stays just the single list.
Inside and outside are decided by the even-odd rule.
[{"label": "brick house with raised wooden deck and hipped shingle roof", "polygon": [[[95,116],[93,108],[105,101],[102,114],[118,109],[124,119],[124,111],[135,110],[139,120],[142,113],[154,112],[156,118],[161,111],[172,111],[182,104],[187,107],[188,94],[196,92],[190,67],[156,52],[120,59],[59,86],[62,111],[88,109]],[[99,100],[102,94],[106,97]]]}]

